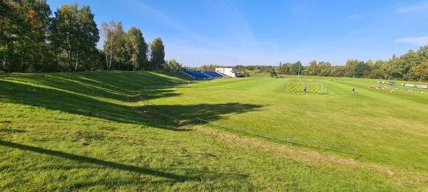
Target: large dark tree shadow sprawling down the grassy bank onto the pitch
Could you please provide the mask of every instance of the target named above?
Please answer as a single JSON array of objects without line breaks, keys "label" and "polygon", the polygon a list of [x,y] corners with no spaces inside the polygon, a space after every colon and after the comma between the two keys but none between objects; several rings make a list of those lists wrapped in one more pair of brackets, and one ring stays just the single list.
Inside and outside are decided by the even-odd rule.
[{"label": "large dark tree shadow sprawling down the grassy bank onto the pitch", "polygon": [[[65,75],[74,74],[66,73]],[[103,74],[96,73],[96,75]],[[148,75],[148,79],[154,78],[156,80],[156,77],[150,76],[153,74],[148,73]],[[198,117],[215,120],[220,119],[222,114],[244,113],[252,110],[257,110],[258,108],[262,107],[262,105],[240,104],[238,102],[200,105],[158,105],[156,106],[156,109],[161,109],[159,110],[160,112],[158,114],[150,114],[147,112],[145,107],[119,105],[114,102],[105,101],[102,98],[96,98],[97,96],[103,96],[107,99],[115,99],[117,95],[115,96],[115,94],[112,94],[111,92],[118,93],[124,91],[131,93],[132,89],[138,87],[138,83],[136,85],[133,85],[135,87],[131,86],[126,89],[121,87],[121,83],[117,82],[112,84],[100,82],[101,84],[106,85],[91,84],[91,86],[104,86],[102,89],[98,89],[91,86],[88,87],[87,85],[82,85],[80,83],[75,84],[75,82],[68,82],[68,80],[50,81],[49,79],[52,78],[52,75],[49,75],[49,78],[43,78],[43,76],[44,75],[35,75],[35,77],[32,78],[32,80],[36,79],[33,83],[38,83],[39,85],[48,85],[49,87],[39,86],[38,84],[27,85],[22,82],[0,80],[0,100],[16,104],[31,105],[34,107],[44,107],[49,110],[58,110],[61,112],[79,114],[87,117],[106,119],[113,122],[141,124],[146,125],[148,127],[158,127],[161,129],[169,129],[175,131],[183,130],[177,128],[177,124],[174,123],[175,120],[196,119]],[[18,80],[26,78],[27,77],[25,76],[25,78],[19,78]],[[54,77],[54,79],[56,78]],[[103,78],[101,77],[101,80],[102,79]],[[130,80],[128,78],[124,79],[125,80],[121,81]],[[133,82],[133,84],[135,84],[135,82]],[[116,88],[113,89],[112,86]],[[173,95],[177,95],[176,93],[168,92],[169,90],[164,90],[165,87],[170,86],[179,85],[162,85],[157,88],[153,88],[150,90],[148,89],[146,90],[146,92],[142,92],[142,94],[144,95],[144,97],[149,98],[170,97]],[[50,87],[55,87],[55,89],[52,89]],[[91,90],[93,90],[93,92],[91,92]],[[107,90],[111,92],[106,92]],[[136,93],[134,92],[134,94]],[[89,97],[89,95],[94,96],[95,98]],[[129,95],[127,96],[125,94],[121,96],[121,100],[128,100],[126,97],[129,97]],[[135,100],[133,102],[138,101],[138,95],[135,95],[134,99]],[[160,120],[160,118],[157,118],[161,117],[160,114],[172,115],[173,119],[161,118],[165,120]]]}]

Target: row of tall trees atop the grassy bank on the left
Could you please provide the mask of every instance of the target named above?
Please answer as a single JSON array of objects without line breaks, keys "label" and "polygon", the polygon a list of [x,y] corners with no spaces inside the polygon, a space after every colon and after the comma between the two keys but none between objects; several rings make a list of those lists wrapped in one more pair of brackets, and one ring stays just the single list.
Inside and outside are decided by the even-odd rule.
[{"label": "row of tall trees atop the grassy bank on the left", "polygon": [[7,73],[180,68],[165,61],[161,38],[146,43],[141,29],[124,31],[120,21],[98,29],[89,6],[64,4],[52,14],[46,0],[0,0],[0,70]]}]

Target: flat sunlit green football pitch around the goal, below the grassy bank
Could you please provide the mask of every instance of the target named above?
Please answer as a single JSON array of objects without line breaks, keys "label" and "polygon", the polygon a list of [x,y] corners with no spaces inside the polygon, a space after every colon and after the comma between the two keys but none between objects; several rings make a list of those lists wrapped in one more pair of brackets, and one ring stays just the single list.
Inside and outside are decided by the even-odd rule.
[{"label": "flat sunlit green football pitch around the goal, below the grassy bank", "polygon": [[[292,82],[320,83],[322,94],[287,92],[286,86]],[[428,173],[428,95],[421,93],[427,91],[409,92],[401,82],[397,84],[394,92],[389,92],[387,87],[394,87],[382,84],[384,90],[370,88],[379,87],[377,80],[295,76],[282,80],[259,75],[173,88],[177,97],[153,102],[252,106],[245,112],[225,112],[216,117],[198,110],[170,112],[183,119],[198,113],[202,119],[229,127],[348,146],[362,154],[360,161]]]}]

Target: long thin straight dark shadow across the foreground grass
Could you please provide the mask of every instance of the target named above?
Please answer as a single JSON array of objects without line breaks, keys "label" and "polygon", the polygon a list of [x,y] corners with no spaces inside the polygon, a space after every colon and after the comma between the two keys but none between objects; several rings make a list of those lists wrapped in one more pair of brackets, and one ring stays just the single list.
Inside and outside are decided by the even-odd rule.
[{"label": "long thin straight dark shadow across the foreground grass", "polygon": [[[14,148],[14,149],[32,151],[32,152],[35,152],[38,154],[46,154],[46,155],[50,155],[50,156],[60,157],[63,159],[70,159],[73,161],[79,161],[81,163],[95,164],[98,166],[105,166],[108,168],[119,169],[121,171],[131,171],[131,172],[136,173],[136,174],[146,174],[146,175],[151,175],[151,176],[168,178],[174,182],[198,181],[201,178],[201,175],[190,176],[190,175],[172,174],[172,173],[167,173],[167,172],[163,172],[163,171],[156,171],[156,170],[152,170],[152,169],[147,169],[147,168],[143,168],[143,167],[139,167],[139,166],[119,164],[119,163],[116,163],[113,161],[105,161],[102,159],[96,159],[96,158],[87,157],[87,156],[69,154],[69,153],[62,152],[62,151],[55,151],[55,150],[51,150],[51,149],[43,149],[43,148],[36,147],[36,146],[29,146],[29,145],[14,143],[14,142],[7,142],[4,140],[0,140],[0,145],[10,147],[10,148]],[[204,175],[207,175],[206,173],[208,173],[206,171],[201,171],[199,173],[198,171],[195,171],[195,170],[193,170],[192,172],[197,173],[197,174],[204,174]],[[204,172],[206,172],[206,173],[204,173]],[[210,176],[213,178],[221,176],[221,175],[248,177],[248,176],[245,176],[242,174],[219,174],[219,173],[214,173],[214,172],[209,172],[208,176],[211,174],[214,174],[213,176]]]}]

